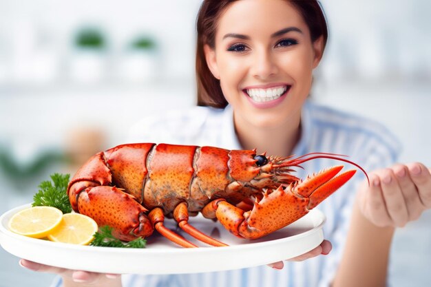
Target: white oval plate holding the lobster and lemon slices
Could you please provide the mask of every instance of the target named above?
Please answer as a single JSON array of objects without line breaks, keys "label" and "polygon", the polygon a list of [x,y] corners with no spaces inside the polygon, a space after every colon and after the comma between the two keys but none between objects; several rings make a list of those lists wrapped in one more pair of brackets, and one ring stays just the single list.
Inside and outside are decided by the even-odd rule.
[{"label": "white oval plate holding the lobster and lemon slices", "polygon": [[174,220],[165,225],[202,248],[181,248],[154,231],[147,238],[147,248],[111,248],[78,246],[38,240],[8,230],[10,217],[30,204],[7,211],[0,217],[0,244],[17,257],[41,264],[73,270],[118,274],[179,274],[233,270],[269,264],[302,255],[324,240],[325,215],[313,209],[293,224],[258,240],[237,238],[218,222],[202,216],[190,223],[200,231],[229,244],[211,247],[196,242],[176,227]]}]

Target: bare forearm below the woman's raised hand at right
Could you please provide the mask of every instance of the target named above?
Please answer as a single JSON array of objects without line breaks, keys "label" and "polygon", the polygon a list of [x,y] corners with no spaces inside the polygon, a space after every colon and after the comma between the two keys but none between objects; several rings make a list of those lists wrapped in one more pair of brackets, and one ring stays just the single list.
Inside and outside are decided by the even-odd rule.
[{"label": "bare forearm below the woman's raised hand at right", "polygon": [[381,228],[369,222],[355,204],[333,287],[385,286],[394,231],[392,227]]}]

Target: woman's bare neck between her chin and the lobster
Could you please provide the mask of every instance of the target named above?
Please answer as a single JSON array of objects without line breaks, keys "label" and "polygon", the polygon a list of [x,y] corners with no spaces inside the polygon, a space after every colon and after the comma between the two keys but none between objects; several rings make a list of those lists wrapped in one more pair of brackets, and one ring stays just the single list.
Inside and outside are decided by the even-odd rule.
[{"label": "woman's bare neck between her chin and the lobster", "polygon": [[233,115],[235,131],[243,149],[257,149],[269,156],[291,156],[301,134],[300,115],[297,120],[273,127],[255,127]]}]

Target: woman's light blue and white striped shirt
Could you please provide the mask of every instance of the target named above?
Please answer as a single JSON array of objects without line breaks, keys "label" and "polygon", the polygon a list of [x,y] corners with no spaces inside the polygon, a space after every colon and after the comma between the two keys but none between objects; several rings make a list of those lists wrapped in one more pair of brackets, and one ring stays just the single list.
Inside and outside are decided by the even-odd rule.
[{"label": "woman's light blue and white striped shirt", "polygon": [[[145,118],[132,127],[128,141],[241,148],[229,106],[223,110],[194,107],[187,112],[174,111],[168,116]],[[372,171],[394,163],[400,147],[385,127],[371,120],[308,102],[302,111],[302,136],[293,153],[300,156],[311,152],[346,154],[349,160],[357,162],[366,171]],[[335,164],[339,163],[324,158],[305,162],[302,164],[304,170],[298,169],[297,176],[304,178],[307,173]],[[341,259],[355,191],[363,178],[363,174],[357,173],[344,187],[317,206],[327,217],[324,234],[333,244],[329,255],[304,262],[284,262],[282,270],[258,266],[215,273],[123,275],[123,286],[329,286]]]}]

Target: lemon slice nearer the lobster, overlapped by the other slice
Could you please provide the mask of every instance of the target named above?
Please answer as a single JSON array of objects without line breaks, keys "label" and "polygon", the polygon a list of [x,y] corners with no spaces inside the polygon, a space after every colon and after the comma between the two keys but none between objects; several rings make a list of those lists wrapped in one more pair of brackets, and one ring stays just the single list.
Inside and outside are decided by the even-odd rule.
[{"label": "lemon slice nearer the lobster, overlapped by the other slice", "polygon": [[48,239],[54,242],[87,245],[94,240],[93,235],[96,231],[97,224],[91,217],[67,213],[63,215],[59,227],[48,235]]}]

